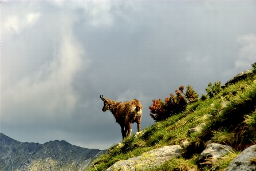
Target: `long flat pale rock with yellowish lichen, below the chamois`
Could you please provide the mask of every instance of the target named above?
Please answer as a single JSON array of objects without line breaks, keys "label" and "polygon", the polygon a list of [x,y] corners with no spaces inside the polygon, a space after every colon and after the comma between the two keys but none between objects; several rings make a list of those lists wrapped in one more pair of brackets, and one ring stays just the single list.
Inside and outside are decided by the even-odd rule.
[{"label": "long flat pale rock with yellowish lichen, below the chamois", "polygon": [[128,160],[117,161],[110,166],[107,171],[111,170],[138,170],[153,168],[163,164],[164,161],[172,157],[181,156],[182,148],[179,145],[164,146],[159,149],[153,149],[143,153],[141,156],[129,158]]}]

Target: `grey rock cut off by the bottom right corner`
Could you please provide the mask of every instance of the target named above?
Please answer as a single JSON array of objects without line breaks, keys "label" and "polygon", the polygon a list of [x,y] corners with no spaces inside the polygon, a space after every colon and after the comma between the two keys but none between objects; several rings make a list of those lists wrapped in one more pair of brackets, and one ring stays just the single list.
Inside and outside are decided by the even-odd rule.
[{"label": "grey rock cut off by the bottom right corner", "polygon": [[256,157],[256,145],[249,146],[237,156],[225,171],[255,171],[256,165],[250,162],[250,159]]}]

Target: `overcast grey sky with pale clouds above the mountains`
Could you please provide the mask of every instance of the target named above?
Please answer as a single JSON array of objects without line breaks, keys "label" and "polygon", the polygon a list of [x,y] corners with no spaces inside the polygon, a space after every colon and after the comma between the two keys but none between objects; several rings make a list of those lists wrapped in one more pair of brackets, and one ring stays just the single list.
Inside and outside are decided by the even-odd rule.
[{"label": "overcast grey sky with pale clouds above the mountains", "polygon": [[[148,107],[206,94],[256,62],[255,1],[1,1],[1,129],[21,142],[107,149],[122,139],[100,95]],[[132,125],[135,133],[136,124]]]}]

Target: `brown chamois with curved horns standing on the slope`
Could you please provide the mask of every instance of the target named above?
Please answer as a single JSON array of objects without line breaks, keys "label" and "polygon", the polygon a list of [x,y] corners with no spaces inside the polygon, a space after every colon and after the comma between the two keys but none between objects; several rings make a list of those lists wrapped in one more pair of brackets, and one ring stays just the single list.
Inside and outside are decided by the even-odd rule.
[{"label": "brown chamois with curved horns standing on the slope", "polygon": [[123,141],[126,137],[131,136],[131,124],[136,122],[138,132],[140,132],[140,120],[142,115],[142,106],[139,100],[133,99],[129,102],[116,102],[100,96],[104,102],[103,112],[110,110],[116,118],[116,122],[121,126]]}]

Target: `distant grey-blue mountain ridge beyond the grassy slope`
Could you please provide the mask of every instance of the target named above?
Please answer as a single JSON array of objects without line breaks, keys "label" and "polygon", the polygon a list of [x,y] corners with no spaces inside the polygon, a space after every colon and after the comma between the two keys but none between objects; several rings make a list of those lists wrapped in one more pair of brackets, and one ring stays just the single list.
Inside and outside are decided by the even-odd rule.
[{"label": "distant grey-blue mountain ridge beyond the grassy slope", "polygon": [[0,170],[84,170],[107,150],[87,149],[68,142],[19,142],[0,133]]}]

